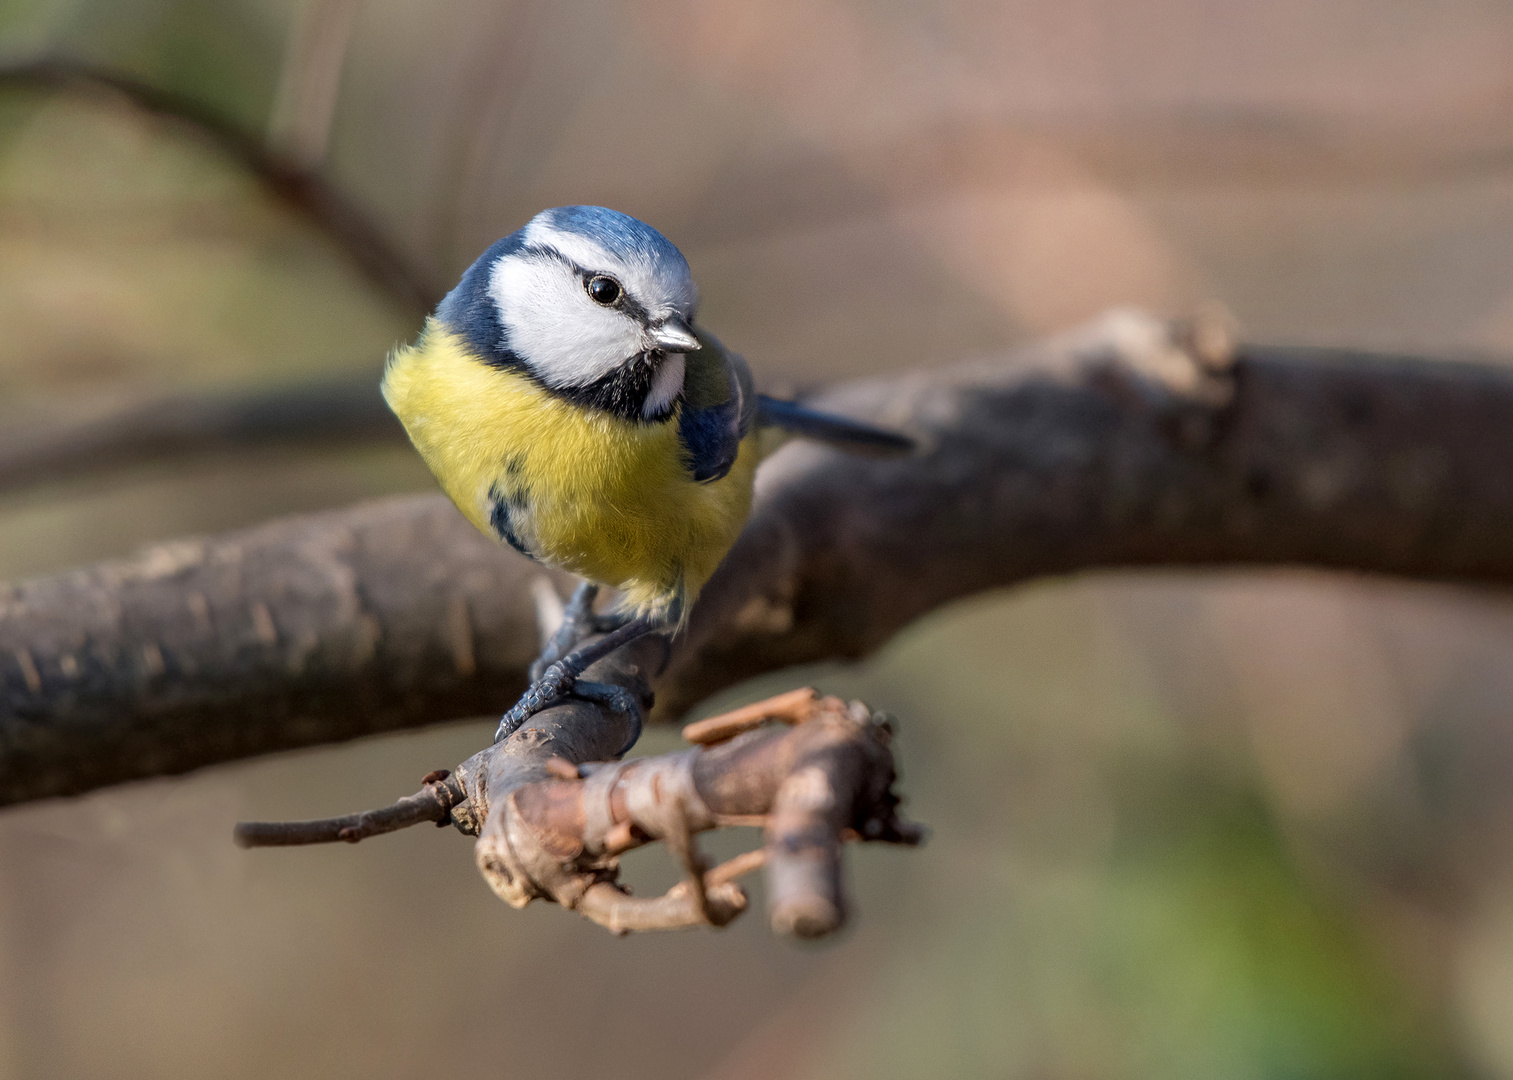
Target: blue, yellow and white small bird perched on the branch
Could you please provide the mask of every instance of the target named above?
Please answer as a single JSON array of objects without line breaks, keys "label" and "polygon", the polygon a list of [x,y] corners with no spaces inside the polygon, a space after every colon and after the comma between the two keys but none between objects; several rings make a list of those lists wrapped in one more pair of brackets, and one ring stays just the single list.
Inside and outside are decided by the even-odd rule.
[{"label": "blue, yellow and white small bird perched on the branch", "polygon": [[[697,306],[687,259],[660,231],[607,207],[561,206],[478,256],[415,342],[389,355],[384,401],[463,516],[583,579],[496,741],[576,696],[628,712],[634,744],[629,693],[581,675],[685,623],[750,513],[756,464],[778,442],[763,430],[912,448],[908,436],[758,395]],[[573,649],[599,587],[617,590],[611,628]]]}]

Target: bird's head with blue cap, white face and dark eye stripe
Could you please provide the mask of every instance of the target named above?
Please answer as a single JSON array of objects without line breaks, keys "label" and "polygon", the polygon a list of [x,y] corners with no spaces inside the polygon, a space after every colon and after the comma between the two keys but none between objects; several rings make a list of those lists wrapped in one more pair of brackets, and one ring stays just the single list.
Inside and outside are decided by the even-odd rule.
[{"label": "bird's head with blue cap, white face and dark eye stripe", "polygon": [[626,419],[682,392],[697,292],[682,253],[602,206],[543,210],[478,257],[437,309],[487,363]]}]

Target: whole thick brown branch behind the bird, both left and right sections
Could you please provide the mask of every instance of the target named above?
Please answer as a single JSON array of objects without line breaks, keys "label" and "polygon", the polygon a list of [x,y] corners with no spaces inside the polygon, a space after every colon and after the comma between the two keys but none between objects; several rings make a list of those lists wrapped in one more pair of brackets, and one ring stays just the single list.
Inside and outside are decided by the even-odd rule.
[{"label": "whole thick brown branch behind the bird, both left and right sections", "polygon": [[[796,443],[763,466],[752,520],[658,679],[663,715],[758,672],[865,655],[956,597],[1085,567],[1513,581],[1502,368],[1230,357],[1123,315],[823,401],[921,451]],[[501,711],[537,647],[540,573],[427,496],[6,588],[0,799]],[[622,734],[561,756],[607,758]]]}]

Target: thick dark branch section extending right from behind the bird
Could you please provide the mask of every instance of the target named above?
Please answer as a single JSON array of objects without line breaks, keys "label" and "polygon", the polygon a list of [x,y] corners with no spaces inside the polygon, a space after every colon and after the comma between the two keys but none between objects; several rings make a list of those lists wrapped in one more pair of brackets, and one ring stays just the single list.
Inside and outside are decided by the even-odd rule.
[{"label": "thick dark branch section extending right from behind the bird", "polygon": [[943,604],[1045,575],[1286,564],[1513,582],[1513,371],[1207,336],[1118,312],[1000,365],[825,395],[926,452],[797,445],[770,461],[658,684],[661,714],[864,656]]}]

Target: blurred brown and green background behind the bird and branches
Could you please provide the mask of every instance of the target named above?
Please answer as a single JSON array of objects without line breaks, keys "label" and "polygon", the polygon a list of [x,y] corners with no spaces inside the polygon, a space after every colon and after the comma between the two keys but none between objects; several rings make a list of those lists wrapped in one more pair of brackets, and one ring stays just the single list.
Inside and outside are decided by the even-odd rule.
[{"label": "blurred brown and green background behind the bird and branches", "polygon": [[[44,56],[318,169],[434,292],[542,207],[642,216],[770,387],[1206,299],[1513,355],[1505,3],[0,0]],[[377,380],[419,318],[192,127],[0,82],[0,433]],[[396,443],[11,487],[0,579],[430,489]],[[900,717],[935,830],[850,853],[837,941],[616,941],[452,832],[231,847],[492,728],[448,725],[0,812],[0,1077],[1513,1077],[1507,597],[1086,575],[711,708],[806,679]]]}]

